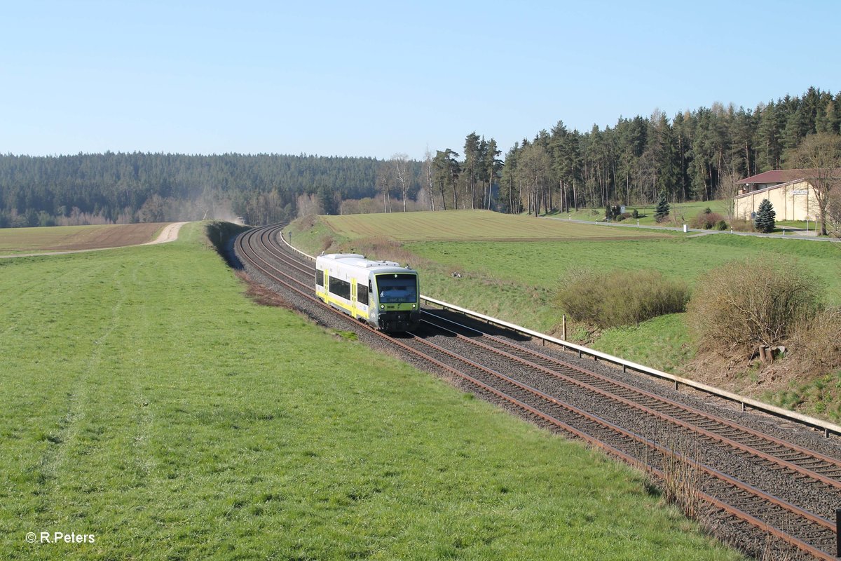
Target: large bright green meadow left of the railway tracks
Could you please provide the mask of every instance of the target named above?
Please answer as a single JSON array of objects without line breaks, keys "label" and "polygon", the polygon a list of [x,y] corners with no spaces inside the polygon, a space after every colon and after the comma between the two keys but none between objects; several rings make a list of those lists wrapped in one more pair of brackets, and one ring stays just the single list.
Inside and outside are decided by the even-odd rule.
[{"label": "large bright green meadow left of the railway tracks", "polygon": [[0,262],[6,558],[735,557],[631,470],[251,304],[199,233]]}]

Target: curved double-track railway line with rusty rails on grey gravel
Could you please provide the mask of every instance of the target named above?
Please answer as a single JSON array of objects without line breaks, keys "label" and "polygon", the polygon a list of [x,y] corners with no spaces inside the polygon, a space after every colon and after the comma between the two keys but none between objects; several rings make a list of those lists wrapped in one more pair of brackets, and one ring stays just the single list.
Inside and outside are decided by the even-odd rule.
[{"label": "curved double-track railway line with rusty rails on grey gravel", "polygon": [[734,421],[727,411],[653,390],[632,376],[583,368],[441,310],[422,310],[416,332],[384,335],[315,298],[314,268],[278,243],[281,229],[247,231],[236,239],[235,253],[252,277],[309,315],[330,318],[320,320],[357,331],[540,426],[599,447],[667,488],[682,488],[678,499],[685,509],[703,511],[709,526],[750,553],[774,542],[790,558],[836,558],[837,447],[825,444],[817,451],[770,434],[761,422]]}]

